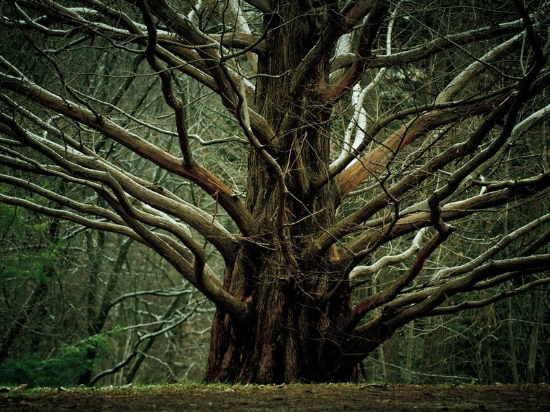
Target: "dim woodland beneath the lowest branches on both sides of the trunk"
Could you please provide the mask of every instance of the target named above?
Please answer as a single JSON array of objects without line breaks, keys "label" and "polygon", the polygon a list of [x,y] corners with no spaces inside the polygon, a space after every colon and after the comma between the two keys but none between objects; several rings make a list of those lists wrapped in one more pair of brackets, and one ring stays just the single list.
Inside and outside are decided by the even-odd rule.
[{"label": "dim woodland beneath the lowest branches on both sides of the trunk", "polygon": [[[0,366],[3,384],[74,385],[89,367],[97,374],[129,358],[98,385],[201,380],[214,308],[155,253],[23,209],[0,211],[0,324],[21,324]],[[549,297],[533,290],[410,323],[365,361],[367,376],[391,383],[548,382]]]}]

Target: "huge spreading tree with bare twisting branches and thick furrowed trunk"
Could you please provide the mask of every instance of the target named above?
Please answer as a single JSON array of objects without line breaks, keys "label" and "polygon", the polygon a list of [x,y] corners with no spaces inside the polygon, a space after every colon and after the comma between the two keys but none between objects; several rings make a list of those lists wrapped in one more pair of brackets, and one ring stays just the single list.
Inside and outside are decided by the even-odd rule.
[{"label": "huge spreading tree with bare twisting branches and thick furrowed trunk", "polygon": [[550,282],[547,8],[476,4],[5,3],[1,181],[61,207],[0,201],[169,262],[217,307],[206,380],[349,380]]}]

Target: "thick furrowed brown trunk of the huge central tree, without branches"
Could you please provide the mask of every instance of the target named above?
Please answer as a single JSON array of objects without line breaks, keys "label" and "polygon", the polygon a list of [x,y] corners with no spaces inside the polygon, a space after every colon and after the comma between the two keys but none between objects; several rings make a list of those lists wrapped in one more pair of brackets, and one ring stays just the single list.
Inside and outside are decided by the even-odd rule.
[{"label": "thick furrowed brown trunk of the huge central tree, without branches", "polygon": [[292,91],[292,74],[285,75],[298,67],[322,26],[320,16],[303,16],[299,8],[281,4],[277,14],[265,18],[265,24],[274,27],[266,38],[272,52],[268,60],[259,59],[259,71],[270,76],[260,77],[256,85],[258,110],[277,125],[276,150],[271,154],[287,172],[286,231],[281,236],[282,228],[277,227],[278,182],[259,153],[252,151],[247,206],[261,223],[263,236],[243,242],[234,268],[225,271],[224,286],[251,300],[255,317],[238,325],[217,311],[208,381],[349,380],[356,369],[342,360],[343,337],[335,327],[349,314],[349,297],[335,294],[319,301],[339,280],[329,271],[329,259],[336,255],[327,253],[316,262],[299,258],[306,244],[333,225],[337,201],[333,185],[310,191],[329,165],[330,108],[319,99],[328,82],[328,59],[314,66],[314,84]]}]

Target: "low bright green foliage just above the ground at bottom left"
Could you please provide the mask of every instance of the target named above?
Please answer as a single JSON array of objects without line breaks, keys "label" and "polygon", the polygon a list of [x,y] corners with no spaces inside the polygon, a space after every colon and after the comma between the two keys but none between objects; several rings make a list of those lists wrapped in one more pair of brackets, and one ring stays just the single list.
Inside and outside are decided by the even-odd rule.
[{"label": "low bright green foliage just above the ground at bottom left", "polygon": [[25,383],[30,387],[74,385],[78,376],[93,367],[97,358],[90,354],[95,353],[98,357],[107,354],[109,334],[111,332],[96,334],[71,345],[63,343],[55,358],[41,360],[37,354],[20,360],[8,358],[0,367],[0,384]]}]

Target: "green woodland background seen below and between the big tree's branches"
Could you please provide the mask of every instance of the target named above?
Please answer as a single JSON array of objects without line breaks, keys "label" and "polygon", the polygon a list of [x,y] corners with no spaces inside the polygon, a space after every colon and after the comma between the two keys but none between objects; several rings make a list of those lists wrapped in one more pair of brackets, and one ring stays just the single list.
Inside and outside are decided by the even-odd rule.
[{"label": "green woodland background seen below and between the big tree's branches", "polygon": [[[210,5],[204,6],[202,18],[212,19],[214,27],[216,2],[207,3]],[[1,6],[3,12],[9,7],[8,4]],[[416,7],[422,7],[422,3]],[[468,10],[474,10],[468,17],[471,27],[487,20],[481,10]],[[437,25],[440,32],[445,32],[445,25],[453,19],[452,13],[439,8],[422,16],[426,25]],[[399,36],[406,33],[416,36],[417,40],[431,40],[430,32],[408,33],[406,20],[397,22],[395,31]],[[0,46],[2,52],[10,54],[23,49],[20,60],[26,59],[34,76],[47,84],[51,68],[34,58],[38,52],[16,43],[18,37],[9,36],[8,26],[0,25],[0,30],[2,38],[7,38]],[[136,117],[173,130],[172,112],[159,91],[160,80],[148,71],[144,56],[136,54],[132,62],[124,56],[126,60],[122,61],[122,51],[102,53],[102,47],[107,46],[107,41],[98,39],[72,52],[81,56],[72,58],[73,62],[78,60],[83,65],[80,71],[90,68],[92,74],[86,80],[89,87]],[[475,44],[467,47],[476,53]],[[407,95],[415,91],[415,104],[422,104],[437,90],[441,80],[436,77],[437,67],[452,64],[459,67],[460,59],[461,54],[455,51],[442,51],[423,60],[422,65],[398,67],[386,78],[385,85],[381,84],[367,99],[375,106],[378,100],[384,100],[385,93],[399,96],[399,93]],[[122,73],[129,64],[137,76],[121,76],[120,89],[113,89],[107,78],[101,76]],[[91,70],[92,67],[100,70]],[[71,67],[65,69],[70,71]],[[97,76],[94,71],[98,72]],[[174,87],[186,104],[190,133],[197,133],[206,141],[236,133],[236,120],[223,111],[219,99],[206,87],[183,76],[174,79]],[[483,77],[478,79],[483,81]],[[348,119],[351,116],[349,101],[342,101],[335,110]],[[127,122],[114,110],[111,116],[120,117],[120,124]],[[478,120],[472,119],[460,127],[473,127],[476,122]],[[345,127],[342,122],[342,133]],[[548,124],[542,122],[531,130],[531,142],[535,144],[519,145],[499,160],[500,168],[518,165],[529,168],[533,164],[544,164],[548,168],[547,127]],[[147,128],[141,128],[140,132],[151,141],[157,139]],[[450,133],[459,133],[459,130]],[[224,218],[222,211],[217,211],[214,200],[190,183],[153,168],[108,140],[98,141],[97,145],[97,150],[109,153],[121,165],[148,176],[201,209],[217,214],[225,227],[231,227],[230,220]],[[169,147],[177,142],[165,140],[163,145]],[[234,181],[236,186],[243,185],[246,179],[248,150],[246,142],[239,138],[220,145],[193,142],[197,161],[224,180]],[[91,199],[96,196],[94,193],[61,181],[45,184],[71,198],[100,202]],[[56,207],[1,181],[0,193],[28,196],[36,203]],[[417,194],[419,198],[422,195]],[[362,201],[358,198],[357,202]],[[347,207],[353,209],[358,205]],[[509,227],[517,226],[516,222],[521,225],[525,216],[532,220],[549,207],[549,199],[543,196],[538,201],[489,214],[489,218],[484,215],[463,220],[461,233],[456,233],[434,253],[427,266],[444,267],[456,262],[456,258],[478,255],[492,244],[492,233],[507,233]],[[461,236],[474,238],[476,242],[463,242]],[[407,247],[408,244],[399,239],[388,243],[372,256],[372,262]],[[217,273],[223,273],[219,256],[206,242],[205,248],[208,264]],[[545,248],[548,253],[549,247]],[[384,268],[360,293],[366,296],[379,290],[391,279],[392,270],[392,266]],[[483,290],[478,292],[479,299],[483,299],[483,293]],[[549,298],[548,288],[543,287],[478,310],[417,319],[401,328],[364,361],[366,375],[373,381],[389,383],[549,382]],[[143,245],[113,233],[86,229],[0,203],[0,385],[124,385],[201,380],[213,313],[214,307],[203,295]]]}]

